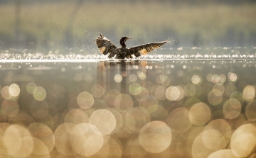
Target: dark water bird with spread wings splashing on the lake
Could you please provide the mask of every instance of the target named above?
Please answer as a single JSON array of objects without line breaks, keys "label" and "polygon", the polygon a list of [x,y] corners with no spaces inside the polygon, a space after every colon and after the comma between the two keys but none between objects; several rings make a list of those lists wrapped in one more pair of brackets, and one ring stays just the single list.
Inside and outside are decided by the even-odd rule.
[{"label": "dark water bird with spread wings splashing on the lake", "polygon": [[100,34],[96,39],[97,47],[103,55],[108,55],[109,58],[115,57],[115,59],[132,59],[134,56],[139,57],[141,55],[146,55],[148,52],[155,50],[165,43],[169,43],[169,40],[165,40],[157,43],[146,43],[144,45],[137,45],[134,47],[127,48],[125,42],[131,38],[122,37],[120,39],[120,45],[122,47],[115,46],[109,39],[104,35]]}]

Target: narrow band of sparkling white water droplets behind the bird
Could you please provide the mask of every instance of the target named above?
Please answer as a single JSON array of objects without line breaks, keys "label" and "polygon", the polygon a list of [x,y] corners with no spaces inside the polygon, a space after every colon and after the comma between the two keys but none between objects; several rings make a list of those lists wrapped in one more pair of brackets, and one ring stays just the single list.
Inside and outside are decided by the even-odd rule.
[{"label": "narrow band of sparkling white water droplets behind the bird", "polygon": [[[132,60],[255,60],[256,48],[247,47],[178,47],[156,50],[148,55],[134,57]],[[12,61],[9,61],[12,60]],[[13,61],[16,60],[16,61]],[[21,60],[21,61],[19,61]],[[23,60],[44,60],[45,62],[98,62],[119,61],[108,59],[100,52],[87,52],[83,49],[50,50],[32,52],[32,50],[0,50],[0,62],[23,62]],[[129,61],[129,60],[127,60]],[[40,62],[40,61],[37,61]]]}]

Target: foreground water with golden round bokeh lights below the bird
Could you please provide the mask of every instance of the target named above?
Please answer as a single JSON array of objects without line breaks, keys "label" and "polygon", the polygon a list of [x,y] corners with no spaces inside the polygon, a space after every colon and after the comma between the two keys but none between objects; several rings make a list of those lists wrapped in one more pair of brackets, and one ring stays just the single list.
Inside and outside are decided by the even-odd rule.
[{"label": "foreground water with golden round bokeh lights below the bird", "polygon": [[1,157],[255,157],[256,62],[0,64]]}]

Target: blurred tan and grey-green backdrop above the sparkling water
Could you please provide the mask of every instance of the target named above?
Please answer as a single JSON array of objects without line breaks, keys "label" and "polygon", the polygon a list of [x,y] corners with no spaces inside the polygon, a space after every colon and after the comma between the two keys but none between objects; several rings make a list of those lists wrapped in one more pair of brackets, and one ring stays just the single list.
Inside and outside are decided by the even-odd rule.
[{"label": "blurred tan and grey-green backdrop above the sparkling water", "polygon": [[169,47],[256,45],[254,0],[0,0],[0,47],[97,50],[100,33],[127,47],[171,39]]}]

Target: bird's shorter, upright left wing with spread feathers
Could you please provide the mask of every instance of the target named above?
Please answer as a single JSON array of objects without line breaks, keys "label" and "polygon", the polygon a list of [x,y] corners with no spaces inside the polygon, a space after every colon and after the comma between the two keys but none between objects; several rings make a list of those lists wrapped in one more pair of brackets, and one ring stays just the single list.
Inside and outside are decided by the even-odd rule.
[{"label": "bird's shorter, upright left wing with spread feathers", "polygon": [[100,34],[100,37],[96,39],[97,47],[100,49],[100,52],[103,53],[103,55],[107,55],[107,53],[110,53],[108,56],[109,58],[114,57],[114,55],[117,54],[117,47],[104,35]]}]

